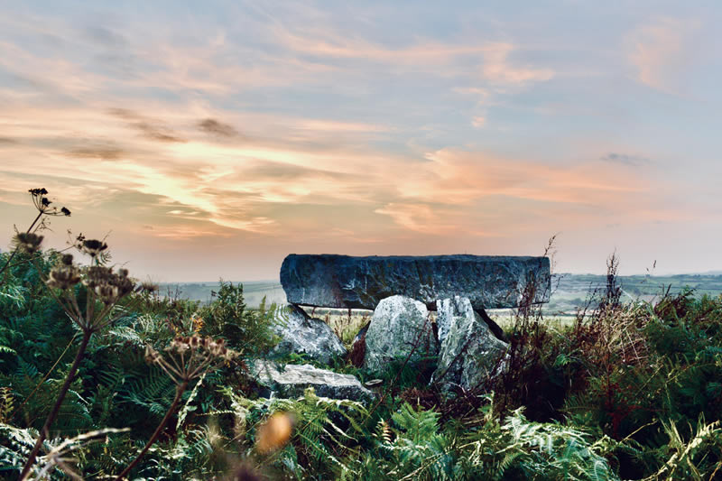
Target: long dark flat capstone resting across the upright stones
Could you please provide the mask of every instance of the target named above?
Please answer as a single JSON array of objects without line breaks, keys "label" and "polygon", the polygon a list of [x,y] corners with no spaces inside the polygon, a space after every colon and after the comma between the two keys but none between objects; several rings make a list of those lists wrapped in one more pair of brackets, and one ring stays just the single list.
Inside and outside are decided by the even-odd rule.
[{"label": "long dark flat capstone resting across the upright stones", "polygon": [[373,310],[403,295],[435,310],[437,300],[461,296],[478,310],[518,307],[528,285],[533,302],[547,302],[551,276],[548,257],[290,254],[281,283],[288,301],[304,306]]}]

